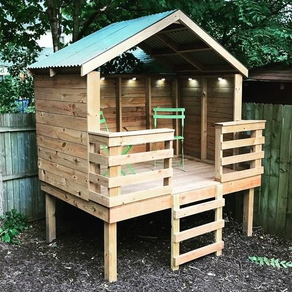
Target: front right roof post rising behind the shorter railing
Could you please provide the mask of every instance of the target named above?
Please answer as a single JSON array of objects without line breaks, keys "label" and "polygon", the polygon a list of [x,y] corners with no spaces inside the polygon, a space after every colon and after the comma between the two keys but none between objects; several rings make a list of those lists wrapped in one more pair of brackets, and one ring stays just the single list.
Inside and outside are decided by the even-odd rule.
[{"label": "front right roof post rising behind the shorter railing", "polygon": [[[234,88],[233,88],[233,120],[241,120],[242,107],[242,75],[234,74]],[[239,133],[233,133],[233,140],[239,139]],[[233,155],[239,154],[239,148],[233,148]],[[238,164],[233,164],[233,169],[236,169]]]}]

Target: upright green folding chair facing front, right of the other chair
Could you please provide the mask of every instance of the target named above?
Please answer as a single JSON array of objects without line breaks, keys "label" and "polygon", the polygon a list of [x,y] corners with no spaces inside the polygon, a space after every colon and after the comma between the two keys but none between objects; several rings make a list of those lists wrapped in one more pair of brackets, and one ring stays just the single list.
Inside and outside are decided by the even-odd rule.
[{"label": "upright green folding chair facing front, right of the other chair", "polygon": [[[154,108],[154,128],[157,127],[157,120],[158,119],[178,119],[181,120],[181,124],[182,124],[182,134],[180,136],[178,136],[178,133],[175,133],[177,136],[174,136],[174,140],[181,140],[182,141],[182,156],[181,156],[181,162],[180,163],[176,163],[176,164],[172,164],[172,165],[176,165],[176,166],[183,166],[183,171],[184,170],[184,159],[183,159],[183,127],[184,127],[184,119],[185,119],[185,115],[184,115],[184,108]],[[175,114],[165,114],[165,112],[171,112],[171,113],[175,113]],[[156,144],[154,144],[154,149],[156,149]],[[156,169],[156,165],[161,165],[161,164],[157,164],[156,161],[154,161],[154,169]]]}]

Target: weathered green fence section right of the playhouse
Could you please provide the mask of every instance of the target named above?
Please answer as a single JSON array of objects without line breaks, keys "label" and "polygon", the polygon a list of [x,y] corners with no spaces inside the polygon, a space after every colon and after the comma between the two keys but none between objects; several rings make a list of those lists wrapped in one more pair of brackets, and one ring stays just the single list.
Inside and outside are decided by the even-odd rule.
[{"label": "weathered green fence section right of the playhouse", "polygon": [[[292,106],[243,103],[242,119],[267,121],[264,174],[261,186],[255,189],[254,226],[292,240]],[[242,194],[237,194],[229,207],[240,220]]]}]

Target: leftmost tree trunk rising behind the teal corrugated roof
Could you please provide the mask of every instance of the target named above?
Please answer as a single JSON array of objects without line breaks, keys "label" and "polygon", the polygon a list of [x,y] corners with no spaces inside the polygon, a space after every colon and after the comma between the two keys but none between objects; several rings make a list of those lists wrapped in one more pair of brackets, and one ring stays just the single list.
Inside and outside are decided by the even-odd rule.
[{"label": "leftmost tree trunk rising behind the teal corrugated roof", "polygon": [[62,32],[62,10],[61,3],[58,1],[59,7],[55,7],[54,0],[48,0],[48,17],[51,26],[54,52],[60,49],[60,37]]}]

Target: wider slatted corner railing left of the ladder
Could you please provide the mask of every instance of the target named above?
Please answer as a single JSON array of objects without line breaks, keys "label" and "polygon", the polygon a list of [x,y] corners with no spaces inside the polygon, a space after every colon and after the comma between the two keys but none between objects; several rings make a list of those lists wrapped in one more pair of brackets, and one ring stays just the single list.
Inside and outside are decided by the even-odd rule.
[{"label": "wider slatted corner railing left of the ladder", "polygon": [[[107,207],[146,200],[171,194],[173,129],[149,129],[128,132],[89,132],[89,199]],[[123,146],[164,142],[164,149],[122,155]],[[108,155],[100,154],[100,145],[107,147]],[[121,175],[121,166],[164,159],[164,168],[137,174]],[[100,171],[107,167],[107,175]],[[160,187],[121,194],[121,187],[163,179]],[[101,186],[108,188],[101,194]]]}]

